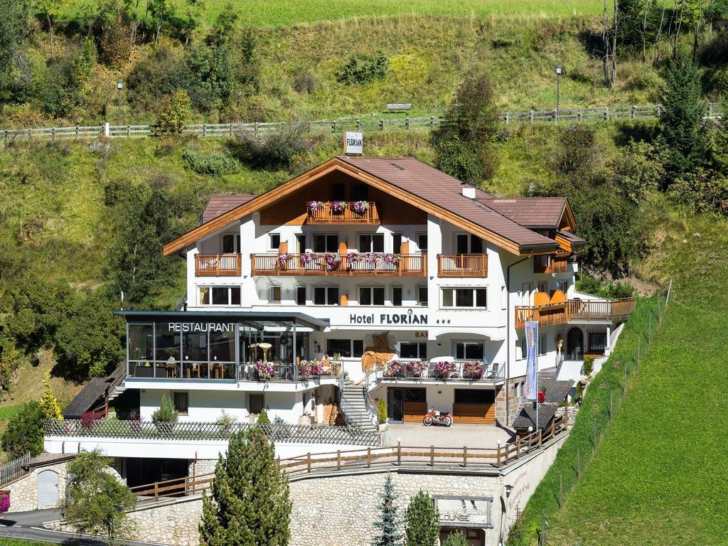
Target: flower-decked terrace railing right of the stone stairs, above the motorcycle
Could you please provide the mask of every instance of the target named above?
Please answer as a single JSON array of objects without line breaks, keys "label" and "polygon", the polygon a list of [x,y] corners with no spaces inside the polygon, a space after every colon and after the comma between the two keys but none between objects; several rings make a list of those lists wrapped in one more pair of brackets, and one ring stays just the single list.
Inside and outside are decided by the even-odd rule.
[{"label": "flower-decked terrace railing right of the stone stairs, above the motorcycle", "polygon": [[[475,381],[494,383],[505,379],[505,364],[480,363],[467,360],[430,360],[426,367],[417,366],[418,360],[399,360],[397,365],[384,366],[376,376],[379,381]],[[413,365],[414,363],[414,365]],[[439,365],[438,365],[439,364]]]}]

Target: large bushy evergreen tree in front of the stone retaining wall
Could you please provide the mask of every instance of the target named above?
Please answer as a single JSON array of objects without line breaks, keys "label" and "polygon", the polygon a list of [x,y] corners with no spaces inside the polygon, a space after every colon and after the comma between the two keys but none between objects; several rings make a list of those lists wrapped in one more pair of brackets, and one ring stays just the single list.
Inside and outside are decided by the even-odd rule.
[{"label": "large bushy evergreen tree in front of the stone retaining wall", "polygon": [[286,546],[290,538],[288,478],[258,427],[232,435],[202,498],[201,546]]}]

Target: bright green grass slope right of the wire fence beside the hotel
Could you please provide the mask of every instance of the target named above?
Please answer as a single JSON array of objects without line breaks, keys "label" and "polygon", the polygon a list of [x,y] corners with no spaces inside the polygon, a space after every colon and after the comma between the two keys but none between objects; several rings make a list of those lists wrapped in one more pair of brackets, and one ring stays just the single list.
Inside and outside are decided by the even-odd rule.
[{"label": "bright green grass slope right of the wire fence beside the hotel", "polygon": [[668,221],[672,301],[550,544],[728,544],[728,224]]}]

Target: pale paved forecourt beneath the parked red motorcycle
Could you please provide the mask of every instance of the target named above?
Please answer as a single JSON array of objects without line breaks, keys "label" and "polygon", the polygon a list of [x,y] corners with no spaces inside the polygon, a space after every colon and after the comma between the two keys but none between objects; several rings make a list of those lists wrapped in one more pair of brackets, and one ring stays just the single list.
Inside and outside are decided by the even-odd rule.
[{"label": "pale paved forecourt beneath the parked red motorcycle", "polygon": [[389,424],[384,433],[384,446],[436,446],[443,448],[495,448],[498,440],[505,445],[514,432],[487,424],[454,424],[452,427],[425,427],[421,423]]}]

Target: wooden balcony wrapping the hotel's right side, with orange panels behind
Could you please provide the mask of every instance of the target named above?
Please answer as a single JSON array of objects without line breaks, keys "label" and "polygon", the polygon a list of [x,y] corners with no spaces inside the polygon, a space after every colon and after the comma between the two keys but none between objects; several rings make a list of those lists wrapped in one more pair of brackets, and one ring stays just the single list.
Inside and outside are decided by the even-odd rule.
[{"label": "wooden balcony wrapping the hotel's right side, with orange panels behind", "polygon": [[621,323],[630,317],[634,309],[633,298],[609,301],[569,300],[558,304],[516,306],[515,327],[523,328],[527,320],[537,320],[539,326],[591,321]]}]

